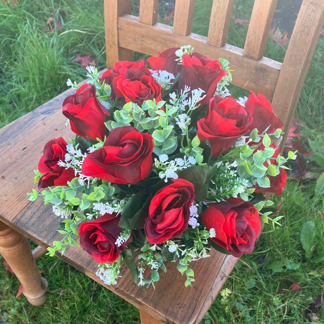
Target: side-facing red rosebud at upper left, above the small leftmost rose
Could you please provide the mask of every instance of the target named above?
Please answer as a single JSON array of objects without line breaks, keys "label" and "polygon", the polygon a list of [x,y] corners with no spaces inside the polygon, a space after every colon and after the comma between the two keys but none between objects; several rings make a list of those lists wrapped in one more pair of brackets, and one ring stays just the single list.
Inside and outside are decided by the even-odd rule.
[{"label": "side-facing red rosebud at upper left, above the small leftmost rose", "polygon": [[71,130],[88,139],[105,138],[105,115],[110,116],[96,97],[96,86],[84,84],[63,101],[63,115],[70,120]]}]

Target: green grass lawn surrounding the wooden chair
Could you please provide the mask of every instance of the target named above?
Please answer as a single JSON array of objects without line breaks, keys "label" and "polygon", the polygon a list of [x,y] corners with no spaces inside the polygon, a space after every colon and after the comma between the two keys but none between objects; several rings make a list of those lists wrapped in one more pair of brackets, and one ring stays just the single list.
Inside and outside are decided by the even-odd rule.
[{"label": "green grass lawn surrounding the wooden chair", "polygon": [[[193,32],[206,36],[205,17],[211,5],[211,0],[196,0]],[[64,91],[67,78],[81,81],[85,71],[72,62],[76,54],[91,54],[99,69],[105,67],[102,8],[102,0],[18,0],[14,9],[0,2],[0,127]],[[233,17],[249,19],[251,8],[250,0],[237,0]],[[163,8],[159,12],[163,13]],[[52,16],[56,23],[62,23],[58,32],[44,31]],[[227,42],[243,47],[246,32],[246,26],[231,20]],[[265,56],[282,61],[285,49],[269,38]],[[324,129],[323,51],[324,40],[320,39],[295,113],[305,125],[302,143],[307,149],[308,139],[314,139]],[[236,97],[246,94],[236,88],[231,91]],[[287,181],[281,201],[286,215],[282,227],[274,231],[266,225],[255,251],[238,261],[226,281],[224,289],[231,293],[217,296],[203,324],[310,323],[304,312],[324,290],[324,262],[315,263],[318,253],[324,250],[324,199],[314,197],[314,188],[312,180]],[[281,197],[273,199],[278,203]],[[302,227],[308,221],[315,225],[310,258],[306,258],[300,240]],[[291,265],[299,268],[289,269]],[[16,300],[19,283],[0,267],[0,323],[1,318],[12,324],[139,323],[135,307],[61,260],[44,256],[38,266],[45,270],[43,276],[50,291],[42,307],[30,306],[23,296]],[[277,294],[294,283],[301,289]],[[316,312],[318,323],[324,323],[324,307]]]}]

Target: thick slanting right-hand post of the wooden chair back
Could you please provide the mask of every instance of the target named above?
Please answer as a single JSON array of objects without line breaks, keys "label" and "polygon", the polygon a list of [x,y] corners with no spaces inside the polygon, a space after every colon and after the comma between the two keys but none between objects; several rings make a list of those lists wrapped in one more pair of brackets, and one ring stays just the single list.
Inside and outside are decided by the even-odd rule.
[{"label": "thick slanting right-hand post of the wooden chair back", "polygon": [[324,1],[303,1],[272,100],[274,112],[285,125],[282,144],[285,143],[323,24]]}]

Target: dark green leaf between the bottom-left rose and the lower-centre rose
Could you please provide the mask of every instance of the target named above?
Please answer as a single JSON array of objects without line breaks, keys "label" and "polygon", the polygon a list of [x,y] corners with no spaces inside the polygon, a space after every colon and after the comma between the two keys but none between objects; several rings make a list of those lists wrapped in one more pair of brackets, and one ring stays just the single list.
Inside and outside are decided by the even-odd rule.
[{"label": "dark green leaf between the bottom-left rose and the lower-centre rose", "polygon": [[145,204],[147,199],[147,196],[142,192],[135,193],[131,199],[128,200],[128,202],[125,204],[124,210],[121,214],[121,220],[119,221],[119,226],[122,228],[128,228],[133,229],[133,226],[136,224],[140,228],[143,225],[144,219],[141,219],[140,217],[143,217],[143,213],[138,213],[143,205]]}]

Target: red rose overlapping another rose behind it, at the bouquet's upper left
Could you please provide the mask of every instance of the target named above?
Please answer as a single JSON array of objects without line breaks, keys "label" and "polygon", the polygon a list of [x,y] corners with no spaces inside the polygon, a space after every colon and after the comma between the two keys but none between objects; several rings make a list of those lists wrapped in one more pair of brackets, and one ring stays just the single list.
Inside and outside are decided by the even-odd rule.
[{"label": "red rose overlapping another rose behind it, at the bouquet's upper left", "polygon": [[162,88],[154,77],[141,69],[129,69],[116,80],[116,97],[124,96],[126,102],[132,101],[140,107],[144,100],[155,99],[156,103],[161,101],[161,91]]}]

